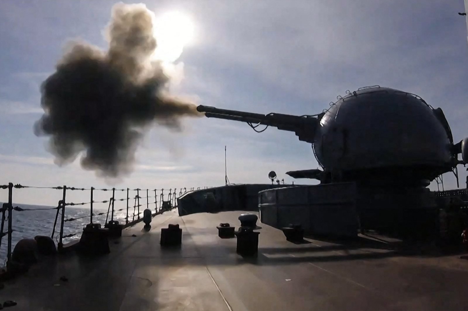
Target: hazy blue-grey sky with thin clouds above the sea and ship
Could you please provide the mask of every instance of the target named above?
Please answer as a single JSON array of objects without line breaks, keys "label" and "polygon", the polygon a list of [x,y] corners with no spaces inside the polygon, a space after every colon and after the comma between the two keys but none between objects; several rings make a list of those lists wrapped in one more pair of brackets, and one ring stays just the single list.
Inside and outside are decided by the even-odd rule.
[{"label": "hazy blue-grey sky with thin clouds above the sea and ship", "polygon": [[[132,3],[131,1],[124,1]],[[347,89],[380,85],[415,93],[446,114],[455,141],[468,136],[468,44],[463,0],[143,1],[157,15],[180,11],[195,25],[174,92],[198,104],[259,113],[315,114]],[[81,38],[102,48],[113,1],[0,1],[0,184],[111,187],[77,163],[53,164],[41,116],[40,83],[62,46]],[[134,173],[117,187],[268,182],[275,170],[316,168],[294,133],[255,133],[242,123],[186,119],[183,133],[154,127]],[[461,186],[466,171],[460,166]],[[451,174],[446,188],[456,187]],[[307,182],[297,180],[295,183]],[[309,181],[308,183],[316,183]],[[0,201],[6,200],[0,190]],[[60,193],[15,191],[15,202],[56,204]],[[78,197],[75,200],[79,200]],[[68,200],[67,200],[68,201]]]}]

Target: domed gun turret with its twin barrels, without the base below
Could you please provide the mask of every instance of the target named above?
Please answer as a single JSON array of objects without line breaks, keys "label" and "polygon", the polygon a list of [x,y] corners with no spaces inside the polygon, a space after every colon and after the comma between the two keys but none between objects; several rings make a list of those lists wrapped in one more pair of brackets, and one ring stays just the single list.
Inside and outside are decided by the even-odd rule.
[{"label": "domed gun turret with its twin barrels, without the base below", "polygon": [[274,126],[311,143],[322,170],[287,172],[294,178],[425,186],[468,162],[468,139],[454,144],[443,111],[421,97],[380,86],[346,93],[315,115],[259,114],[202,105],[197,110],[208,118],[248,123],[257,132],[261,132],[257,126]]}]

